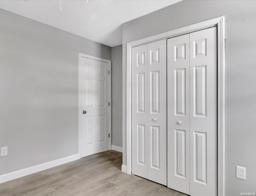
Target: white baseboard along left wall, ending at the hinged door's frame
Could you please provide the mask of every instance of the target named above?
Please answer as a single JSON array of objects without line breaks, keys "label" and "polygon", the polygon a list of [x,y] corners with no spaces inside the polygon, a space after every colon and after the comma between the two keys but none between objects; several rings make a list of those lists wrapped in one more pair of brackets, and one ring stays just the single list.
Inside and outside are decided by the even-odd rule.
[{"label": "white baseboard along left wall, ending at the hinged door's frame", "polygon": [[43,164],[39,164],[39,165],[36,165],[36,166],[25,168],[25,169],[22,169],[22,170],[10,172],[8,174],[3,174],[3,175],[0,176],[0,184],[3,183],[3,182],[14,180],[16,178],[27,176],[29,174],[34,174],[36,172],[40,172],[42,170],[53,168],[53,167],[56,167],[56,166],[59,166],[59,165],[62,165],[62,164],[65,164],[65,163],[68,163],[68,162],[71,162],[71,161],[74,161],[74,160],[78,160],[78,159],[80,159],[80,154],[74,154],[74,155],[71,155],[71,156],[67,156],[67,157],[64,157],[64,158],[60,158],[60,159],[57,159],[57,160],[53,160],[53,161],[50,161],[50,162],[46,162],[46,163],[43,163]]}]

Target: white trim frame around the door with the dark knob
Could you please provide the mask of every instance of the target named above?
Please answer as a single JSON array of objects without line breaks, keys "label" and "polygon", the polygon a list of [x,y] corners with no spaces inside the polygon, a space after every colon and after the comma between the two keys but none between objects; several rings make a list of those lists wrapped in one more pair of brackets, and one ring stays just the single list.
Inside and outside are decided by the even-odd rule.
[{"label": "white trim frame around the door with the dark knob", "polygon": [[81,126],[81,122],[82,122],[82,119],[81,119],[81,111],[82,111],[82,99],[81,99],[81,79],[82,79],[82,76],[81,76],[81,58],[89,58],[89,59],[92,59],[92,60],[98,60],[98,61],[101,61],[101,62],[106,62],[108,63],[108,102],[110,102],[110,105],[108,106],[108,115],[109,115],[109,131],[108,133],[110,134],[109,136],[109,144],[108,144],[108,150],[111,150],[111,144],[112,144],[112,130],[111,130],[111,60],[107,60],[107,59],[104,59],[104,58],[99,58],[99,57],[96,57],[96,56],[91,56],[91,55],[88,55],[88,54],[82,54],[82,53],[79,53],[78,54],[78,130],[79,130],[79,155],[80,155],[80,158],[82,158],[82,126]]}]

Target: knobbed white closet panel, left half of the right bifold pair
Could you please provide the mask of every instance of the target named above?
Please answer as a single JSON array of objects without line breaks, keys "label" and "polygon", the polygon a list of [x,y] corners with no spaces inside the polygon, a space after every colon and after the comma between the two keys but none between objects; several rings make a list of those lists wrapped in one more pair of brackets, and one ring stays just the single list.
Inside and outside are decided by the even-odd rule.
[{"label": "knobbed white closet panel, left half of the right bifold pair", "polygon": [[189,194],[189,34],[168,39],[167,46],[167,186]]}]

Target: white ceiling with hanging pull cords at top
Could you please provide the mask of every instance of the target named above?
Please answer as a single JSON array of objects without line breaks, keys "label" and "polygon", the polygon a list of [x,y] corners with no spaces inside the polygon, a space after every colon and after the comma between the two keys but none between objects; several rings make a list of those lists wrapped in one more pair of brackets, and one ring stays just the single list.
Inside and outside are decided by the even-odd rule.
[{"label": "white ceiling with hanging pull cords at top", "polygon": [[122,24],[180,0],[0,0],[0,8],[107,46],[122,44]]}]

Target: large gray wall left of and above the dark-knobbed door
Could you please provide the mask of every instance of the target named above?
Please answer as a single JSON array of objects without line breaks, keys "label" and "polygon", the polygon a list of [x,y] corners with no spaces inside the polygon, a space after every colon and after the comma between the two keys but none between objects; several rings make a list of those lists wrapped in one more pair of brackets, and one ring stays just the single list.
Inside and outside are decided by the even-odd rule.
[{"label": "large gray wall left of and above the dark-knobbed door", "polygon": [[0,175],[78,153],[78,53],[111,48],[0,9]]}]

